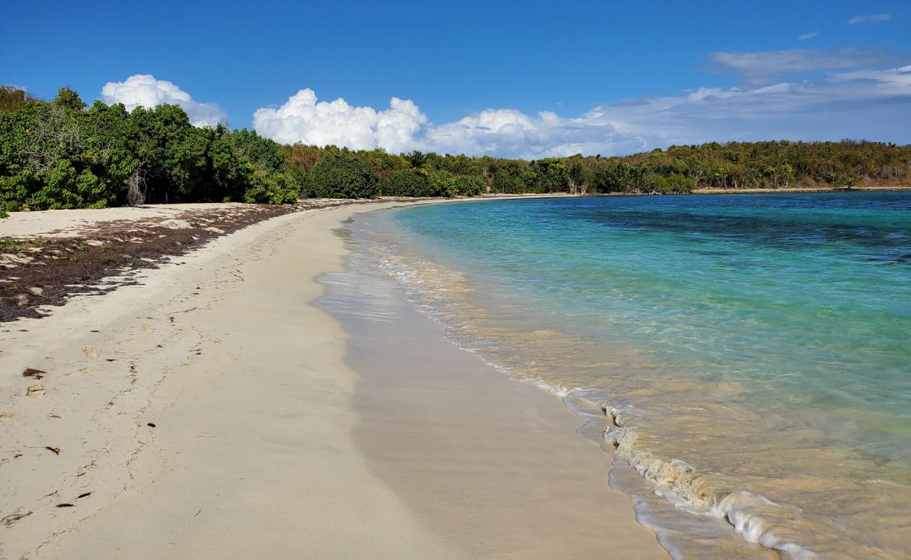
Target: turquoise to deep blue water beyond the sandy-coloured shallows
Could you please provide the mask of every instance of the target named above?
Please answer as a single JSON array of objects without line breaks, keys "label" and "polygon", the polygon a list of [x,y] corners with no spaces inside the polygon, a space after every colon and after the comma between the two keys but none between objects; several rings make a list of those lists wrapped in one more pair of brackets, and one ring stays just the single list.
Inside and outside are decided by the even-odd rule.
[{"label": "turquoise to deep blue water beyond the sandy-coloured shallows", "polygon": [[476,285],[911,461],[911,194],[530,199],[397,212]]}]

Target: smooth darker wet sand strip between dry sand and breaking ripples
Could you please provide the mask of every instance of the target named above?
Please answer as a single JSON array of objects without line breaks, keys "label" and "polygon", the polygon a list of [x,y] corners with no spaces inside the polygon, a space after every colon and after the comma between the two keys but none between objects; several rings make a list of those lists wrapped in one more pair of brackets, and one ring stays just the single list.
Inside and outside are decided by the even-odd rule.
[{"label": "smooth darker wet sand strip between dry sand and breaking ripples", "polygon": [[667,557],[558,399],[446,341],[392,279],[331,276],[318,305],[352,334],[355,442],[434,533],[473,558]]}]

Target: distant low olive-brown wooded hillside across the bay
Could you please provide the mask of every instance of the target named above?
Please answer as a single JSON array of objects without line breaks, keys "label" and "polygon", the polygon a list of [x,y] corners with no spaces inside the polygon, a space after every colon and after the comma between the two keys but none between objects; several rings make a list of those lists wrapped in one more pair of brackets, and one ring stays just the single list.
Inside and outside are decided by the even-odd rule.
[{"label": "distant low olive-brown wooded hillside across the bay", "polygon": [[[323,158],[370,164],[384,196],[440,197],[489,193],[688,193],[696,188],[802,188],[911,183],[911,146],[880,142],[712,142],[632,156],[471,158],[400,156],[382,149],[284,146],[289,167],[310,172]],[[455,187],[446,176],[455,179]]]}]

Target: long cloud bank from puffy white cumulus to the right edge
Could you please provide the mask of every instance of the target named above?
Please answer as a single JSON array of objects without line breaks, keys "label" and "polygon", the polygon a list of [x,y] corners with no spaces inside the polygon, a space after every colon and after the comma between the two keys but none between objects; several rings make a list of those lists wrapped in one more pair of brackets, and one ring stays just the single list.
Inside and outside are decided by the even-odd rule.
[{"label": "long cloud bank from puffy white cumulus to the right edge", "polygon": [[909,142],[911,66],[838,66],[814,79],[625,99],[578,117],[490,108],[439,125],[410,100],[394,97],[376,111],[343,99],[317,103],[304,89],[281,107],[257,110],[253,120],[257,131],[280,142],[518,158],[609,156],[715,140]]}]

